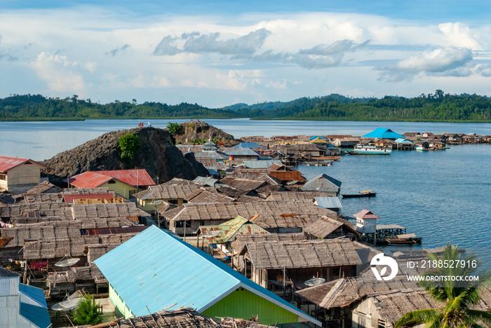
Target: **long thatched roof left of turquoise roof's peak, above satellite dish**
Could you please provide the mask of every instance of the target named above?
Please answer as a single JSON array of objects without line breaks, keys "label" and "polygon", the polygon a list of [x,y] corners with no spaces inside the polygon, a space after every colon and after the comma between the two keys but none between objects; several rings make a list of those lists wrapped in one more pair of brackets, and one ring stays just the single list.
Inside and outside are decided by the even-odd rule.
[{"label": "long thatched roof left of turquoise roof's peak, above satellite dish", "polygon": [[56,259],[65,256],[82,257],[86,245],[117,244],[121,245],[132,238],[136,233],[119,235],[79,235],[67,239],[41,239],[25,242],[24,258]]}]

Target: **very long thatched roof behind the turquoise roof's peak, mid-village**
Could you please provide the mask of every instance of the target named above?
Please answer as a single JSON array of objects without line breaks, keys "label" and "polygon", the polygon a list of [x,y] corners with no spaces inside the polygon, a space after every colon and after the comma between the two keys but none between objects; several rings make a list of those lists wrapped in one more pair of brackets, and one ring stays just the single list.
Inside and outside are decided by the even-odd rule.
[{"label": "very long thatched roof behind the turquoise roof's peak, mid-village", "polygon": [[168,221],[227,221],[239,215],[245,219],[255,217],[253,223],[261,228],[303,227],[322,215],[336,216],[335,212],[317,207],[310,201],[184,204],[160,214]]}]

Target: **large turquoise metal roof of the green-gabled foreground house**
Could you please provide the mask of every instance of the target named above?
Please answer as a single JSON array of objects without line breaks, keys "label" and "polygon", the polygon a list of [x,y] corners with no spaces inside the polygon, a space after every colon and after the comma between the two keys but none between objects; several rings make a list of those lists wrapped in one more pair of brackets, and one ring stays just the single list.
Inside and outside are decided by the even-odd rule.
[{"label": "large turquoise metal roof of the green-gabled foreground house", "polygon": [[174,303],[177,305],[173,308],[192,304],[203,312],[238,287],[244,287],[305,320],[321,324],[221,261],[156,226],[135,235],[95,260],[95,264],[136,316]]}]

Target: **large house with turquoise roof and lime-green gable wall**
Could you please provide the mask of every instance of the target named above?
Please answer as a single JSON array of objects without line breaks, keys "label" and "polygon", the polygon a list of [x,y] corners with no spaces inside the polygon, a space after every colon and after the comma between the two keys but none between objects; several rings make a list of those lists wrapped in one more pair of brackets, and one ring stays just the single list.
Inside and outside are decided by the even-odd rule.
[{"label": "large house with turquoise roof and lime-green gable wall", "polygon": [[257,315],[262,324],[321,322],[226,264],[151,226],[95,260],[124,317],[191,306],[209,317]]}]

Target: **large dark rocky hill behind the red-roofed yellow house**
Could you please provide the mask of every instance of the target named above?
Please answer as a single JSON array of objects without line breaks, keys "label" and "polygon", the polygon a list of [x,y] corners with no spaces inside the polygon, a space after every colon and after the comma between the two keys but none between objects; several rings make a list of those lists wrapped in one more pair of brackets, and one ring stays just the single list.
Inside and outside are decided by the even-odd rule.
[{"label": "large dark rocky hill behind the red-roofed yellow house", "polygon": [[[133,165],[121,160],[119,137],[132,133],[140,137],[142,146],[134,155]],[[174,146],[173,137],[166,130],[159,128],[134,128],[109,132],[74,149],[58,153],[44,165],[52,168],[51,182],[60,185],[66,177],[81,172],[95,170],[125,170],[144,168],[150,177],[159,183],[173,177],[194,179],[198,175],[208,175],[208,170],[198,163],[192,154],[185,157]]]}]

